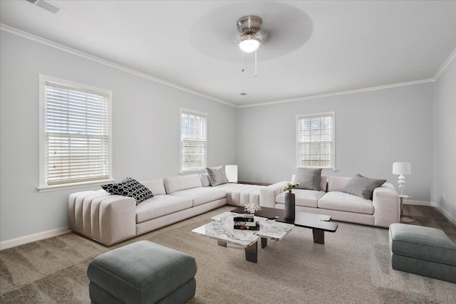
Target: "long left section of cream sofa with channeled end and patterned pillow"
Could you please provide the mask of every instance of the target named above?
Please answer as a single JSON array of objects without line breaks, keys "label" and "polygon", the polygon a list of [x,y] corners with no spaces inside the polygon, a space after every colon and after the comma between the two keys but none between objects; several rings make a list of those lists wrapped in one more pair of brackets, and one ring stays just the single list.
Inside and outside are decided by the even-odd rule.
[{"label": "long left section of cream sofa with channeled end and patterned pillow", "polygon": [[129,196],[105,190],[76,192],[68,197],[69,228],[111,245],[203,214],[219,206],[259,205],[259,189],[251,184],[212,187],[207,174],[182,175],[140,182],[154,196],[136,204]]}]

